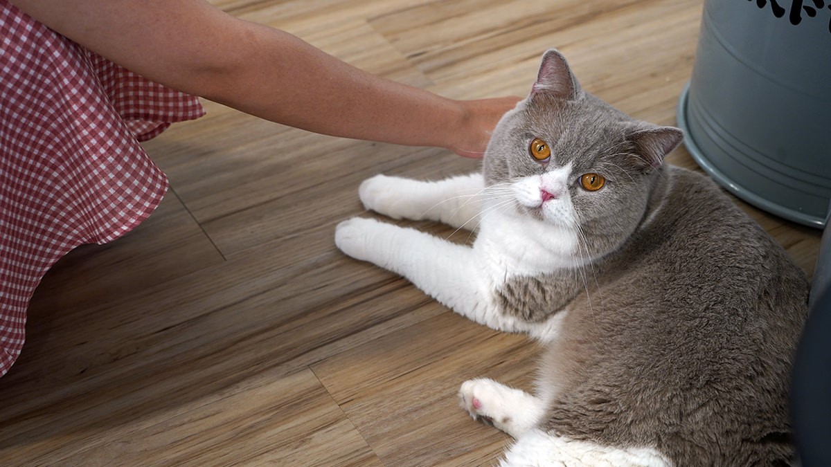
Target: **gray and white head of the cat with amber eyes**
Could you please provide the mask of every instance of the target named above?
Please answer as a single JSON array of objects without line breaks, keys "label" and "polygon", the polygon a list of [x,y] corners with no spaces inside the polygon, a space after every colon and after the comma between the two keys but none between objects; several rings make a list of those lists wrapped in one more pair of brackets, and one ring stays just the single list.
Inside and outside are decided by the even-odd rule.
[{"label": "gray and white head of the cat with amber eyes", "polygon": [[633,119],[583,91],[556,50],[543,56],[529,96],[494,130],[484,176],[516,214],[578,233],[597,258],[641,223],[677,128]]}]

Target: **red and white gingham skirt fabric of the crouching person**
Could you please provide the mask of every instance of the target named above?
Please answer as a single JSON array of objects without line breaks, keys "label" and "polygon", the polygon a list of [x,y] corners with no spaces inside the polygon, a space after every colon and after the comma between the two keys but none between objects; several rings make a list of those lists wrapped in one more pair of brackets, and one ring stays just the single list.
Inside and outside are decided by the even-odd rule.
[{"label": "red and white gingham skirt fabric of the crouching person", "polygon": [[41,278],[146,219],[167,190],[139,145],[199,100],[117,66],[0,0],[0,376]]}]

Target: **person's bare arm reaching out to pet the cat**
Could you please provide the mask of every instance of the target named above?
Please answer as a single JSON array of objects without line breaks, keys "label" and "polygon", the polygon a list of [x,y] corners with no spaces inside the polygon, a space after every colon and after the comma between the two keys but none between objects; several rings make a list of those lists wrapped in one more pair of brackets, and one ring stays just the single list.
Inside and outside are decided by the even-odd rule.
[{"label": "person's bare arm reaching out to pet the cat", "polygon": [[517,98],[456,101],[361,71],[203,0],[12,0],[140,75],[263,119],[327,135],[476,156]]}]

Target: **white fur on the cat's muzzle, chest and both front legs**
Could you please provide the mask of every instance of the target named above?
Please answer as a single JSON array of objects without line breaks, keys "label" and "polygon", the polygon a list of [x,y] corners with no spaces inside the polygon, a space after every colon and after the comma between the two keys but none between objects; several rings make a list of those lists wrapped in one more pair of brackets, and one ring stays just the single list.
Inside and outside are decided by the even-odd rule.
[{"label": "white fur on the cat's muzzle, chest and both front legs", "polygon": [[[359,189],[366,208],[398,219],[433,219],[470,229],[480,225],[473,247],[361,218],[338,224],[335,243],[352,258],[401,274],[475,322],[499,331],[528,332],[548,341],[556,336],[563,313],[532,325],[500,313],[491,292],[509,278],[575,264],[577,234],[566,227],[571,201],[563,195],[543,204],[540,196],[543,184],[546,189],[565,193],[568,171],[564,168],[544,177],[522,179],[508,190],[484,189],[479,174],[439,182],[378,175]],[[517,204],[540,209],[547,220],[520,214]]]}]

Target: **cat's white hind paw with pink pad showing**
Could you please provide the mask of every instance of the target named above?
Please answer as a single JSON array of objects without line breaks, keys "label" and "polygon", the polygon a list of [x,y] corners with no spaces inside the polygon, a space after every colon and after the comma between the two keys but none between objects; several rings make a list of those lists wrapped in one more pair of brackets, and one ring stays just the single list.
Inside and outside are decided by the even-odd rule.
[{"label": "cat's white hind paw with pink pad showing", "polygon": [[462,383],[459,405],[474,420],[490,423],[514,438],[536,427],[544,412],[538,397],[487,378]]}]

